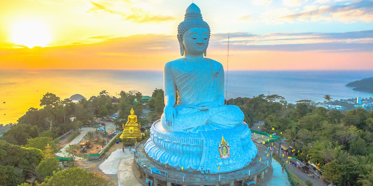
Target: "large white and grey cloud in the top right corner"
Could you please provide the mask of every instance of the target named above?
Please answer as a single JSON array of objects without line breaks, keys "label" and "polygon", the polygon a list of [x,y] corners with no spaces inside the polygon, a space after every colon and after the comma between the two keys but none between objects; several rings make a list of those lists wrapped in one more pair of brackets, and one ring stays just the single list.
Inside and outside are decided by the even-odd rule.
[{"label": "large white and grey cloud in the top right corner", "polygon": [[[284,1],[285,2],[285,1]],[[290,3],[292,2],[292,3]],[[317,1],[324,3],[324,1]],[[287,6],[297,5],[294,1],[286,1]],[[314,4],[304,6],[302,9],[280,8],[262,13],[258,17],[242,16],[239,20],[282,24],[285,22],[332,22],[343,23],[373,22],[373,1],[354,1],[351,3]]]}]

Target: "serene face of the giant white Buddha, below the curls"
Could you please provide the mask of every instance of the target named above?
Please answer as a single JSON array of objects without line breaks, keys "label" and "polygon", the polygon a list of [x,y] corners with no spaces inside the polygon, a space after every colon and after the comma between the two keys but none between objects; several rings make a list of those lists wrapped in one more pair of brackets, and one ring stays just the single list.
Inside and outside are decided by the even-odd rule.
[{"label": "serene face of the giant white Buddha, below the curls", "polygon": [[191,28],[183,35],[186,54],[203,55],[209,46],[209,31],[206,28]]}]

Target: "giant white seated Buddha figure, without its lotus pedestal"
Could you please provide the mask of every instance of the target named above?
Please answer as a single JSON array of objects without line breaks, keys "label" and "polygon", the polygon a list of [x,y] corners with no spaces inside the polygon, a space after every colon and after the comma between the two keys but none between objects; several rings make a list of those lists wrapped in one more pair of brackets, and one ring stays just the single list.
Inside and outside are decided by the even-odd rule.
[{"label": "giant white seated Buddha figure, without its lotus pedestal", "polygon": [[241,110],[235,105],[224,105],[222,64],[204,58],[210,27],[194,3],[186,9],[177,36],[180,54],[184,58],[169,61],[164,66],[163,128],[175,132],[198,132],[241,124],[244,120]]}]

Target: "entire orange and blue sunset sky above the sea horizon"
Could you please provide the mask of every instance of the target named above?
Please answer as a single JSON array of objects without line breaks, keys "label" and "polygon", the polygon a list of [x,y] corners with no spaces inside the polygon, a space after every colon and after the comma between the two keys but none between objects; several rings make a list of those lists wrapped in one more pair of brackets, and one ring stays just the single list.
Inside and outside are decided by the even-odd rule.
[{"label": "entire orange and blue sunset sky above the sea horizon", "polygon": [[[0,68],[162,70],[192,0],[5,0]],[[372,70],[373,1],[194,0],[230,70]]]}]

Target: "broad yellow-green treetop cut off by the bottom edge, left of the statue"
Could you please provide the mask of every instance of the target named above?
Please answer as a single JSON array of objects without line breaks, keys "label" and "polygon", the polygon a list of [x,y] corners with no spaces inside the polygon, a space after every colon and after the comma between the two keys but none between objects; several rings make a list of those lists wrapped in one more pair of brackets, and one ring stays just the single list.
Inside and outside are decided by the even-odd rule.
[{"label": "broad yellow-green treetop cut off by the bottom edge, left of the statue", "polygon": [[89,173],[86,170],[76,167],[70,167],[65,171],[54,173],[50,178],[46,178],[40,186],[111,186],[112,182],[104,179],[95,173]]}]

